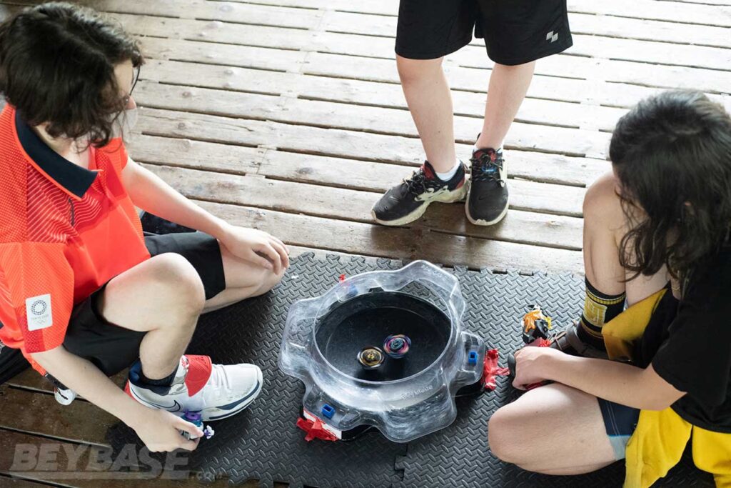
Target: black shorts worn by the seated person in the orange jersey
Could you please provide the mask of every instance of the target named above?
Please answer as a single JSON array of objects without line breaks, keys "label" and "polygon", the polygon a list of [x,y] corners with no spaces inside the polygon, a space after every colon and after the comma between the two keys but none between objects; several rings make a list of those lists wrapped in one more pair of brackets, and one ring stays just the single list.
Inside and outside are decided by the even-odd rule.
[{"label": "black shorts worn by the seated person in the orange jersey", "polygon": [[[221,248],[219,242],[208,234],[195,232],[145,236],[145,245],[153,256],[174,252],[189,260],[200,275],[206,299],[213,298],[226,288]],[[104,287],[96,290],[74,308],[64,338],[64,348],[88,359],[107,376],[112,376],[137,361],[140,343],[146,332],[131,331],[104,320],[97,309],[97,301],[103,290]]]}]

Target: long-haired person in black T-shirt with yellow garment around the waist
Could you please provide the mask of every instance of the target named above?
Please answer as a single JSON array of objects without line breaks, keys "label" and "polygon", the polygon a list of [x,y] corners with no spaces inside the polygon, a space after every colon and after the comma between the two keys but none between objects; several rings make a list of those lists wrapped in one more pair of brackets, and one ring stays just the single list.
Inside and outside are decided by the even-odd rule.
[{"label": "long-haired person in black T-shirt with yellow garment around the waist", "polygon": [[494,414],[491,450],[554,475],[626,459],[634,488],[690,440],[698,468],[731,487],[731,117],[666,92],[618,122],[610,157],[584,203],[581,320],[518,351],[514,386],[553,383]]}]

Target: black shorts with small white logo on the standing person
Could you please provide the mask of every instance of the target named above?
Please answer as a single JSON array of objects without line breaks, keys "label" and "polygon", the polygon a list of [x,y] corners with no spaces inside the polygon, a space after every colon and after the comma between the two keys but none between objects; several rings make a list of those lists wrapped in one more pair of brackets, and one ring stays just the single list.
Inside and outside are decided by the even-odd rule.
[{"label": "black shorts with small white logo on the standing person", "polygon": [[573,44],[567,0],[401,0],[396,53],[436,59],[485,39],[490,59],[524,64]]}]

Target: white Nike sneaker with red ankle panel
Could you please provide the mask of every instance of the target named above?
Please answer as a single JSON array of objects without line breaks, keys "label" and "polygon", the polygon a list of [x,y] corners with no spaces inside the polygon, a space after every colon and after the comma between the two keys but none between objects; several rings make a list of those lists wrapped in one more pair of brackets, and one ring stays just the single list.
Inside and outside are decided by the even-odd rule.
[{"label": "white Nike sneaker with red ankle panel", "polygon": [[208,356],[182,356],[170,386],[151,386],[140,380],[142,365],[129,369],[124,388],[130,397],[150,408],[178,413],[200,412],[203,421],[219,420],[248,407],[262,391],[262,370],[254,364],[211,364]]}]

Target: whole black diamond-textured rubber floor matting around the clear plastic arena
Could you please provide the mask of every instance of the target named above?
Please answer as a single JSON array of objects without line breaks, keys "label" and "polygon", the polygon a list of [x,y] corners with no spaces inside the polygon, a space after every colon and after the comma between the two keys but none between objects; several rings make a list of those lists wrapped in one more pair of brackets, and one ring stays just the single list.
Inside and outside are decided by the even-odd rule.
[{"label": "whole black diamond-textured rubber floor matting around the clear plastic arena", "polygon": [[[340,274],[399,267],[391,260],[303,255],[292,260],[284,280],[267,295],[202,317],[189,352],[223,364],[258,364],[265,388],[245,412],[213,425],[216,435],[190,454],[189,468],[204,479],[223,476],[238,483],[255,478],[268,487],[274,481],[322,488],[621,486],[621,463],[588,476],[555,477],[526,473],[493,457],[487,446],[488,418],[515,394],[504,380],[493,393],[458,399],[455,424],[408,446],[390,443],[377,432],[350,443],[306,443],[295,427],[303,385],[277,367],[289,305],[324,293]],[[468,303],[465,328],[484,334],[501,353],[519,345],[517,318],[526,306],[541,304],[562,325],[577,313],[583,298],[583,280],[577,277],[455,272]],[[108,440],[115,450],[136,441],[122,424],[110,429]],[[662,485],[705,483],[708,477],[699,473],[685,462]]]}]

